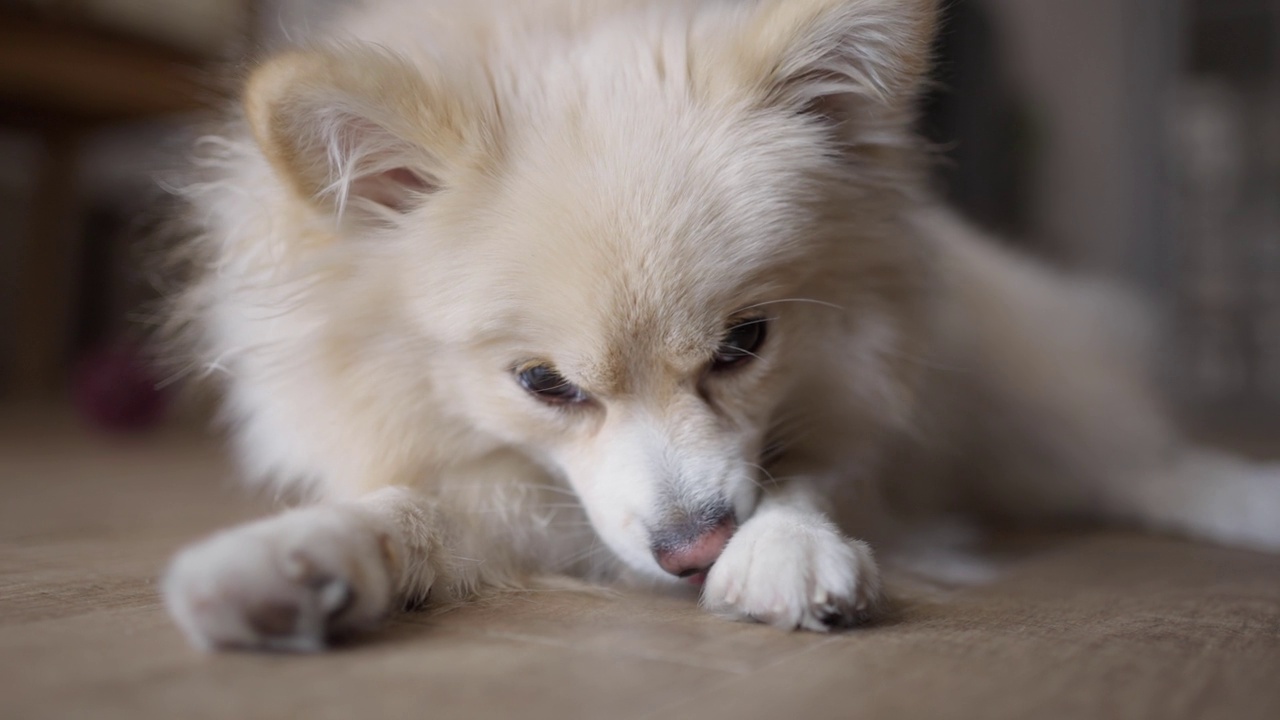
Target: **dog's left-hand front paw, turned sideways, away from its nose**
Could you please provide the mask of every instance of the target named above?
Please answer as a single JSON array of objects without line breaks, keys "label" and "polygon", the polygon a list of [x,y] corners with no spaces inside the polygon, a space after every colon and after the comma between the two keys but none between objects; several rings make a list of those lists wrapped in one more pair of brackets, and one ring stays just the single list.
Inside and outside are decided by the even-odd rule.
[{"label": "dog's left-hand front paw, turned sideways, away from its nose", "polygon": [[392,543],[358,511],[297,510],[179,552],[165,603],[202,650],[317,651],[392,609]]}]

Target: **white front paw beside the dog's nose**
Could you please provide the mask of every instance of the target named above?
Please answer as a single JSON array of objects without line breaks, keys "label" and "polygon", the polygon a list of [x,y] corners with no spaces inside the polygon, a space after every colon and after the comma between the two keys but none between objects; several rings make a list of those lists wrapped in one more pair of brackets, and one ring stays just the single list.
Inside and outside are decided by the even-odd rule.
[{"label": "white front paw beside the dog's nose", "polygon": [[878,600],[867,543],[792,511],[744,524],[703,587],[703,606],[718,615],[817,632],[864,623]]}]

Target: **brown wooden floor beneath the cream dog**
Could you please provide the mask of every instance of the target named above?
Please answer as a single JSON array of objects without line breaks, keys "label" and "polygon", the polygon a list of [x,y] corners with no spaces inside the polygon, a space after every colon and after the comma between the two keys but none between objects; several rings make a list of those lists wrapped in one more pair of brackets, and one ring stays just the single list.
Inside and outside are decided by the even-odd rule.
[{"label": "brown wooden floor beneath the cream dog", "polygon": [[197,433],[0,418],[0,715],[1280,717],[1280,557],[1126,533],[1023,542],[992,583],[840,635],[543,591],[326,655],[192,651],[157,570],[268,510]]}]

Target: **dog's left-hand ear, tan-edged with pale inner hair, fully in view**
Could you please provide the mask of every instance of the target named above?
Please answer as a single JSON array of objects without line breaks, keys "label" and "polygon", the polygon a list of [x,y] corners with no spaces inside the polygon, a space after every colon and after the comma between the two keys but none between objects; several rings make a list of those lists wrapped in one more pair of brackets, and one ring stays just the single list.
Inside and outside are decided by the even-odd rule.
[{"label": "dog's left-hand ear, tan-edged with pale inner hair, fully in view", "polygon": [[385,51],[279,55],[246,86],[244,110],[271,167],[323,213],[389,218],[438,190],[463,145],[458,109]]}]

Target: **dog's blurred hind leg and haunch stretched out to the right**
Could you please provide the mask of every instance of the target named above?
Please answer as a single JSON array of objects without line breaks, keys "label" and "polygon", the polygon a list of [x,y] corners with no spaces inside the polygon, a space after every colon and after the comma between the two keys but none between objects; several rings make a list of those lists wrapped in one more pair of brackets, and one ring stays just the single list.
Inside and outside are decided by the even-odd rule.
[{"label": "dog's blurred hind leg and haunch stretched out to the right", "polygon": [[[1192,446],[1152,370],[1155,325],[1119,288],[1071,279],[934,217],[963,384],[938,419],[974,471],[965,500],[1015,519],[1098,519],[1280,550],[1280,466]],[[977,459],[977,462],[974,462]]]}]

